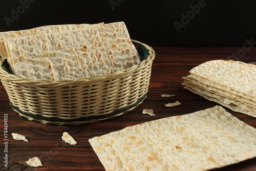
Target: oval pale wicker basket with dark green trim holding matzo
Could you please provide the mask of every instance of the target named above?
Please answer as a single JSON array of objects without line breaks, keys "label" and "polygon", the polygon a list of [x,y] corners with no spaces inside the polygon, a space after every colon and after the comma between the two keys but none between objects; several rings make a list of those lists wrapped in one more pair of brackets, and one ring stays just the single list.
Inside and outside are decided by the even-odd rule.
[{"label": "oval pale wicker basket with dark green trim holding matzo", "polygon": [[[0,67],[0,79],[14,111],[29,120],[82,124],[115,118],[136,108],[146,97],[154,50],[133,40],[141,63],[128,70],[95,78],[34,80]],[[0,65],[4,63],[0,58]]]}]

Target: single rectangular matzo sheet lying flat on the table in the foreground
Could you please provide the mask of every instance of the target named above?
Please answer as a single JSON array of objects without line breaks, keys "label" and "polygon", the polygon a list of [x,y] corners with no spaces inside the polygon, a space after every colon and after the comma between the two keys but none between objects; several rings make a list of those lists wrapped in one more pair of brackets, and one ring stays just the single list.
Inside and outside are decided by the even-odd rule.
[{"label": "single rectangular matzo sheet lying flat on the table in the foreground", "polygon": [[256,129],[221,106],[89,139],[106,170],[209,170],[256,157]]}]

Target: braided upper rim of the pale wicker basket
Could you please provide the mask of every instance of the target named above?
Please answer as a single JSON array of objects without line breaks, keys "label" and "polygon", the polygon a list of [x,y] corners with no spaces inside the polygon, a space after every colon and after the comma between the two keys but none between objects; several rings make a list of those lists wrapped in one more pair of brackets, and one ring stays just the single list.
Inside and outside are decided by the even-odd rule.
[{"label": "braided upper rim of the pale wicker basket", "polygon": [[[142,46],[144,46],[146,49],[148,49],[148,52],[150,53],[150,55],[147,56],[147,58],[145,60],[142,60],[140,62],[139,65],[135,65],[129,69],[126,70],[120,70],[117,71],[113,74],[103,74],[103,75],[99,75],[97,77],[84,77],[84,78],[79,78],[79,79],[65,79],[65,80],[57,80],[57,81],[53,81],[53,80],[47,80],[47,79],[32,79],[32,78],[22,78],[22,77],[18,77],[16,75],[13,74],[9,74],[7,71],[5,71],[2,67],[0,67],[0,76],[4,75],[4,76],[8,76],[9,80],[15,81],[15,82],[26,82],[26,83],[46,83],[46,84],[60,84],[60,83],[75,83],[75,82],[83,82],[83,81],[98,81],[98,80],[102,80],[102,79],[111,79],[113,77],[115,77],[116,75],[126,75],[126,73],[129,73],[132,70],[136,70],[137,68],[139,68],[140,66],[144,65],[144,62],[151,62],[154,60],[155,58],[155,51],[153,50],[152,47],[138,41],[138,40],[134,40],[132,39],[132,41],[137,42],[138,44],[141,44]],[[3,63],[3,58],[0,58],[0,66]],[[1,77],[0,77],[1,78]]]}]

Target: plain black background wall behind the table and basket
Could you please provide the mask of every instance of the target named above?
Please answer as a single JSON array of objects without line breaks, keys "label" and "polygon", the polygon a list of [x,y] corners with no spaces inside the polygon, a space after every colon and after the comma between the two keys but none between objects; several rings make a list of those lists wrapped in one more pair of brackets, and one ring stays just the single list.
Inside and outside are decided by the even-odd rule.
[{"label": "plain black background wall behind the table and basket", "polygon": [[[204,7],[196,14],[191,6],[199,3]],[[182,14],[190,14],[185,24]],[[125,22],[132,39],[150,46],[243,47],[246,39],[256,46],[256,1],[252,0],[0,1],[0,31],[119,21]],[[178,32],[174,23],[182,21]]]}]

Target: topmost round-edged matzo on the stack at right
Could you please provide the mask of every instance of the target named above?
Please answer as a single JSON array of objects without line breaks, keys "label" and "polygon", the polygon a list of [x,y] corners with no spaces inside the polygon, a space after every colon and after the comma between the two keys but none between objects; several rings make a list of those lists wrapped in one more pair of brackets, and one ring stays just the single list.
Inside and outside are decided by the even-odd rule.
[{"label": "topmost round-edged matzo on the stack at right", "polygon": [[191,69],[191,74],[256,98],[256,66],[241,61],[210,60]]}]

